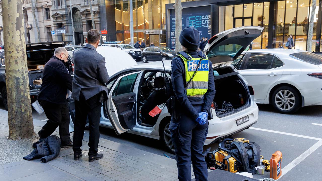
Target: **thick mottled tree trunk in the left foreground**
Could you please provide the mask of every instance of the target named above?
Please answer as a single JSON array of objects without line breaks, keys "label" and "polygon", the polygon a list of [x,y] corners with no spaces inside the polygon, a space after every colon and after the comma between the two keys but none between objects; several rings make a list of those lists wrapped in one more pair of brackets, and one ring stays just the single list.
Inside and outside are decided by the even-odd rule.
[{"label": "thick mottled tree trunk in the left foreground", "polygon": [[22,0],[2,0],[9,139],[34,135]]}]

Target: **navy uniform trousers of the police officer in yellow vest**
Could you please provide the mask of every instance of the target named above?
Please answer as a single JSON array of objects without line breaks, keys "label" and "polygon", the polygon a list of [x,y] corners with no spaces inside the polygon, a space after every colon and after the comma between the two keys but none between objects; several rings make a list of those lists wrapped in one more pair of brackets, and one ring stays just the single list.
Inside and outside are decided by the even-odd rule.
[{"label": "navy uniform trousers of the police officer in yellow vest", "polygon": [[[202,111],[202,105],[193,107],[197,112]],[[179,181],[191,180],[191,162],[196,181],[206,181],[208,171],[202,152],[208,133],[208,121],[200,125],[185,114],[179,113],[178,119],[171,119],[169,129],[175,146]]]}]

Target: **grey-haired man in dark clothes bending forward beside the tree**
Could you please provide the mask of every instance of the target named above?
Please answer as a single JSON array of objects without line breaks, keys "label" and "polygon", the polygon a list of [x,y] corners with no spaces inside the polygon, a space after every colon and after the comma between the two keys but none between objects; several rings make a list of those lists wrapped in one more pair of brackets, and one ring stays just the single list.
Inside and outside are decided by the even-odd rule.
[{"label": "grey-haired man in dark clothes bending forward beside the tree", "polygon": [[65,65],[67,60],[67,50],[63,47],[56,48],[54,56],[45,64],[43,83],[38,95],[39,104],[48,118],[38,135],[41,139],[47,138],[59,127],[62,148],[73,146],[69,135],[70,115],[66,100],[67,90],[72,90],[73,78]]}]

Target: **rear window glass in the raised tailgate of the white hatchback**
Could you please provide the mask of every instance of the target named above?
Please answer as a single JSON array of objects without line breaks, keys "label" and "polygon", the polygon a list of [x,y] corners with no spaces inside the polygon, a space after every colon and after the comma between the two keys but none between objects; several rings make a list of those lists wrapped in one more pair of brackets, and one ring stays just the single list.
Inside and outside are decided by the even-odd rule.
[{"label": "rear window glass in the raised tailgate of the white hatchback", "polygon": [[215,56],[235,56],[237,52],[242,49],[239,44],[224,44],[220,46],[213,46],[208,52],[208,58]]}]

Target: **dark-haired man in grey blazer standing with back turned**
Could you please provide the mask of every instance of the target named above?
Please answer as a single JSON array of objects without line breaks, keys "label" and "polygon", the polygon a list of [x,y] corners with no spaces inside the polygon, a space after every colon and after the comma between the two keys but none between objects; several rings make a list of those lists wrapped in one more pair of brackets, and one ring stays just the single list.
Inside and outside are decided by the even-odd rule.
[{"label": "dark-haired man in grey blazer standing with back turned", "polygon": [[72,98],[75,100],[76,111],[73,140],[74,160],[79,160],[82,156],[81,146],[87,116],[90,121],[88,161],[92,162],[103,157],[103,154],[97,153],[99,119],[102,102],[107,100],[106,83],[109,81],[109,74],[105,66],[105,58],[96,52],[99,40],[99,31],[90,30],[87,33],[87,44],[73,55],[75,75]]}]

